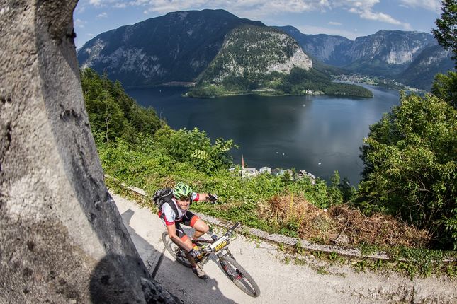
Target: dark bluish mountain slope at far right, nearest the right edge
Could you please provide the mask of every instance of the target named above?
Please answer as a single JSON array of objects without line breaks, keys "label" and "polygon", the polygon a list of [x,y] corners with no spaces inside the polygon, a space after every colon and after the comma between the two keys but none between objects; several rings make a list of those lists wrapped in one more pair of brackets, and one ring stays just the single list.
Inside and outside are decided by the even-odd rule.
[{"label": "dark bluish mountain slope at far right, nearest the right edge", "polygon": [[405,71],[395,76],[395,79],[414,88],[430,90],[436,74],[453,71],[454,62],[451,55],[451,51],[446,51],[441,45],[426,47]]}]

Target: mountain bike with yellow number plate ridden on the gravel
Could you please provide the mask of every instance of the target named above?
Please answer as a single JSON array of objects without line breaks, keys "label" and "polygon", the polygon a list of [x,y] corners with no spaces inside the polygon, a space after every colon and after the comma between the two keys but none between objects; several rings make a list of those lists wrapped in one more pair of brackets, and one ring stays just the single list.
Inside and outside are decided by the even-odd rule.
[{"label": "mountain bike with yellow number plate ridden on the gravel", "polygon": [[[210,255],[216,255],[222,271],[225,272],[228,278],[248,296],[256,298],[260,296],[259,286],[257,286],[254,279],[252,279],[252,276],[238,264],[227,247],[230,244],[232,234],[237,226],[239,226],[239,223],[235,223],[234,226],[229,228],[227,232],[217,240],[205,240],[201,238],[193,240],[193,243],[198,247],[201,247],[199,250],[201,257],[198,259],[198,264],[203,268],[203,265],[210,259]],[[167,232],[162,233],[162,242],[164,242],[165,248],[167,248],[168,252],[170,252],[177,262],[186,267],[191,267],[191,263],[186,258],[185,250],[172,242]]]}]

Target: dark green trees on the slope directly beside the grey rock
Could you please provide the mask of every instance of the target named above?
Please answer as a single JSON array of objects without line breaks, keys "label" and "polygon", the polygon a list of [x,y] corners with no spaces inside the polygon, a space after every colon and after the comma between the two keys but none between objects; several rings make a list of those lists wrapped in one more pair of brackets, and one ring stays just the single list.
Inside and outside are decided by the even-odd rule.
[{"label": "dark green trees on the slope directly beside the grey rock", "polygon": [[98,76],[92,69],[81,71],[81,85],[89,113],[92,134],[97,142],[121,138],[135,143],[139,132],[154,134],[162,122],[152,109],[135,103],[119,81],[113,83],[108,76]]}]

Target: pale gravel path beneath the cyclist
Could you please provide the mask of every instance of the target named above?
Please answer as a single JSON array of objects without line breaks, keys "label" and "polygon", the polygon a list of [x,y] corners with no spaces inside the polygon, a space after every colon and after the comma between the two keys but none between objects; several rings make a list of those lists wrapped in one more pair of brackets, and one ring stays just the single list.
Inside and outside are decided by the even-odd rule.
[{"label": "pale gravel path beneath the cyclist", "polygon": [[165,230],[149,209],[113,195],[140,257],[155,279],[184,303],[456,303],[457,282],[440,278],[405,279],[395,273],[357,273],[308,257],[303,264],[283,262],[284,254],[267,242],[242,236],[230,250],[256,280],[259,298],[240,291],[215,261],[205,264],[208,280],[171,259],[164,250]]}]

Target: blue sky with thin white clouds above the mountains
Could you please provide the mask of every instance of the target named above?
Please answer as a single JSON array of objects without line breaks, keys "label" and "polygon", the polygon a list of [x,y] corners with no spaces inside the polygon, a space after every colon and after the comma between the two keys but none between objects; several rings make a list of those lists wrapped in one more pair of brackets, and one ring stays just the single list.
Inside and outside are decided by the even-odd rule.
[{"label": "blue sky with thin white clouds above the mountains", "polygon": [[351,40],[378,30],[430,33],[441,16],[439,0],[79,0],[73,15],[75,43],[79,48],[100,33],[172,11],[206,8]]}]

